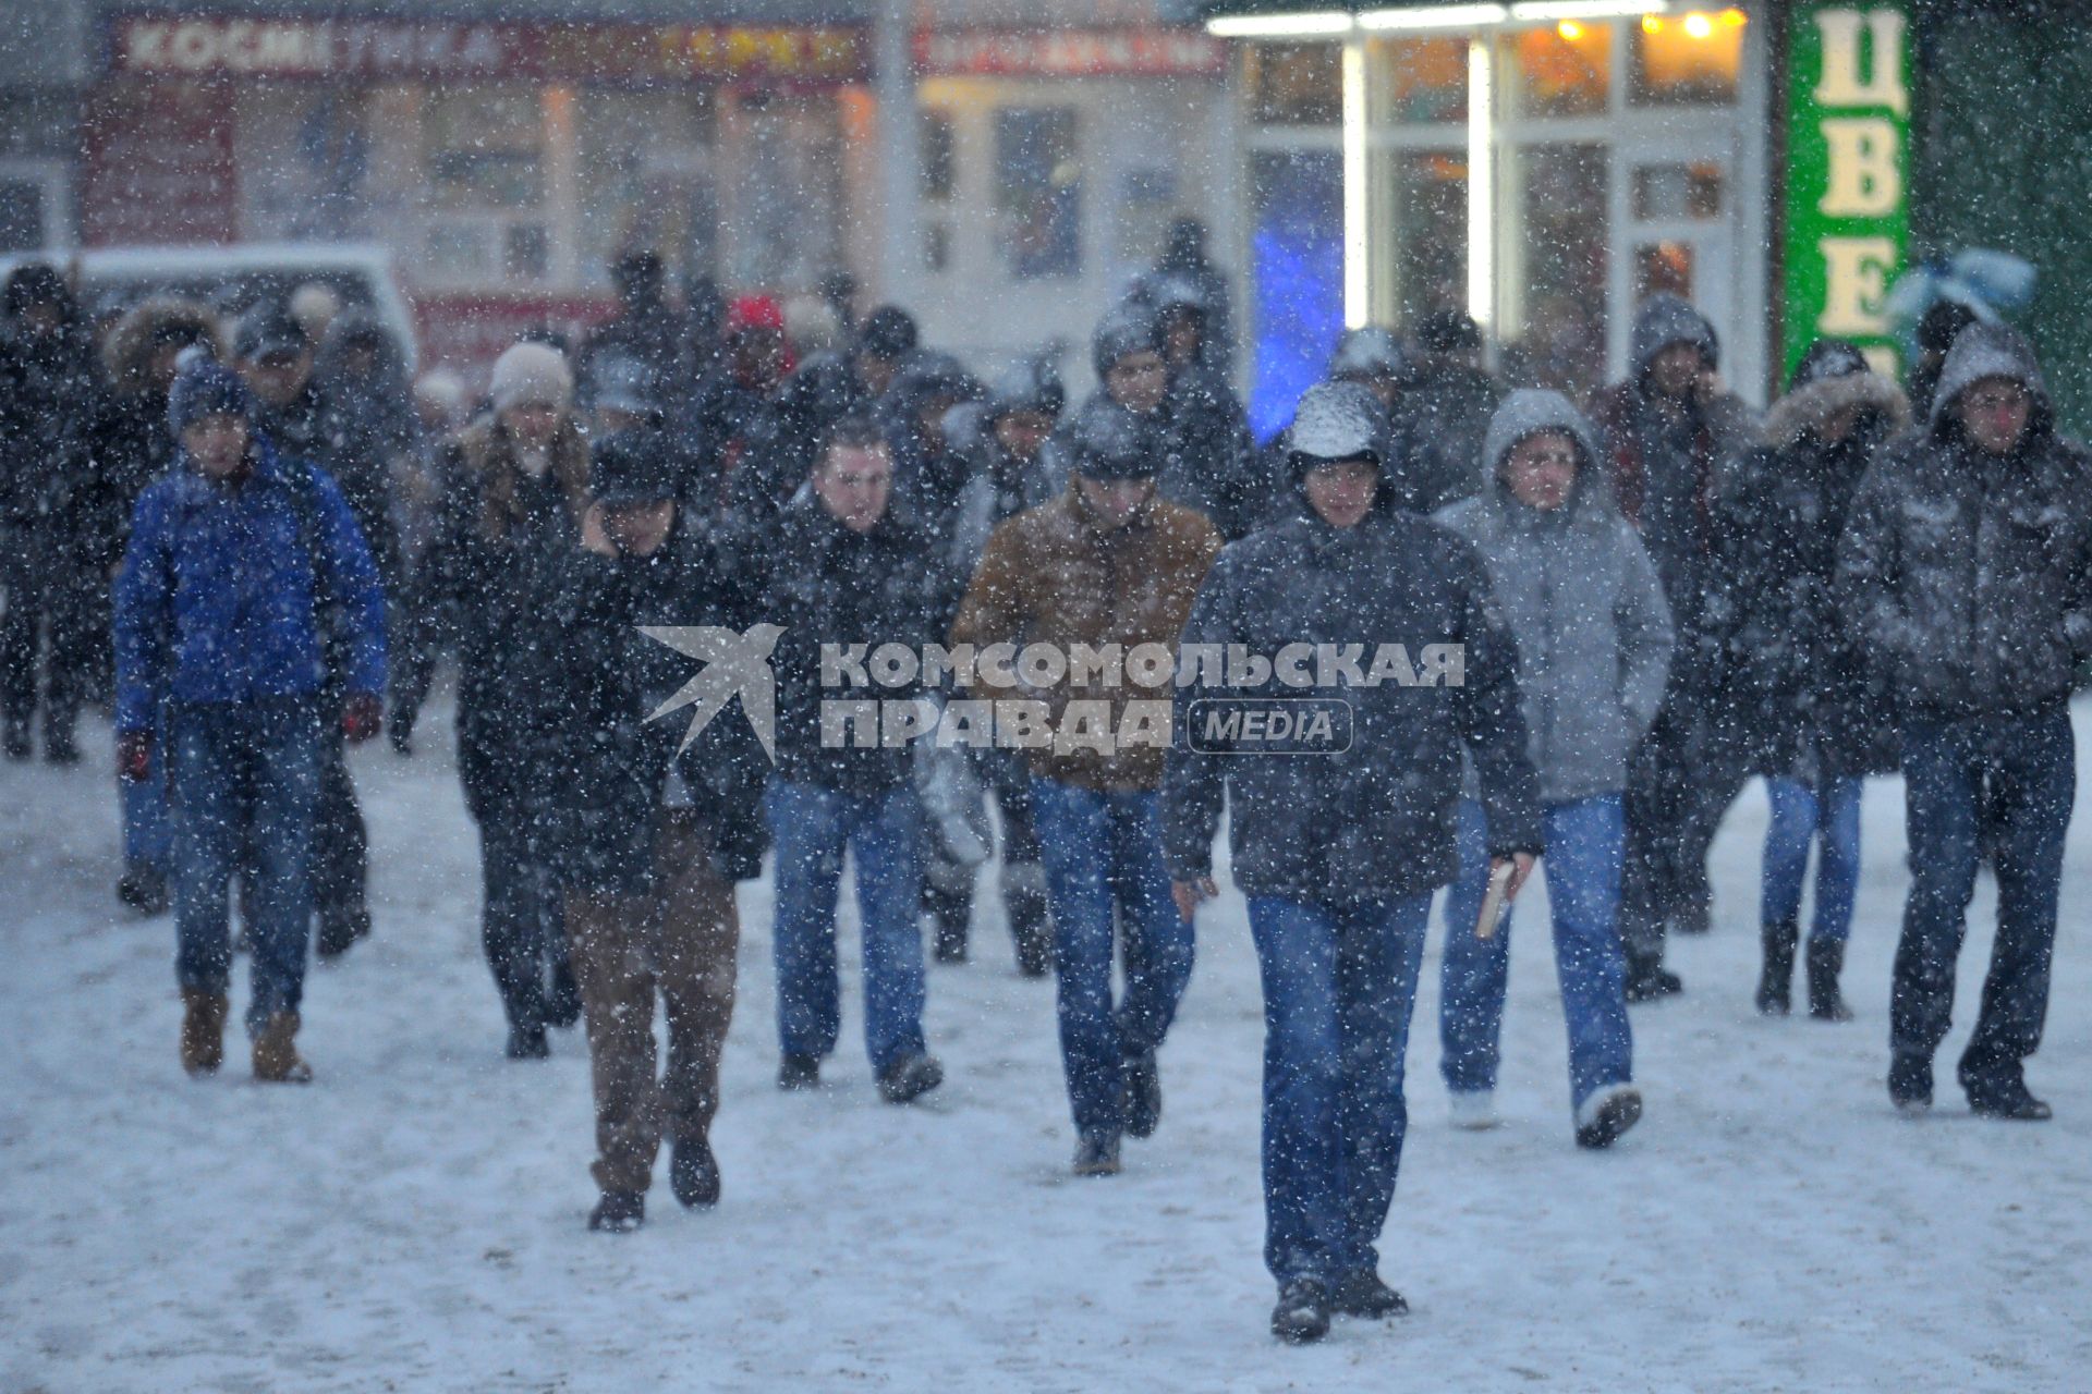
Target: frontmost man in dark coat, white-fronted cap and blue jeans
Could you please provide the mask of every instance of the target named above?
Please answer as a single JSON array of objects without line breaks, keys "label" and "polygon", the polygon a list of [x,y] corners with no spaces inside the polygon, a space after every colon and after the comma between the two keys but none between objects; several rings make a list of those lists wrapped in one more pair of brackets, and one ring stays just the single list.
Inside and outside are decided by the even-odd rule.
[{"label": "frontmost man in dark coat, white-fronted cap and blue jeans", "polygon": [[1490,577],[1466,541],[1391,506],[1370,403],[1349,382],[1301,397],[1297,514],[1222,552],[1182,644],[1266,656],[1289,644],[1456,646],[1460,681],[1333,688],[1351,742],[1314,754],[1192,748],[1190,698],[1213,690],[1184,686],[1163,780],[1163,855],[1184,915],[1213,895],[1213,834],[1230,811],[1264,972],[1264,1260],[1278,1279],[1272,1331],[1289,1342],[1320,1340],[1333,1312],[1408,1310],[1377,1275],[1374,1244],[1408,1129],[1402,1055],[1431,892],[1458,869],[1462,750],[1506,895],[1540,853],[1517,654]]}]

